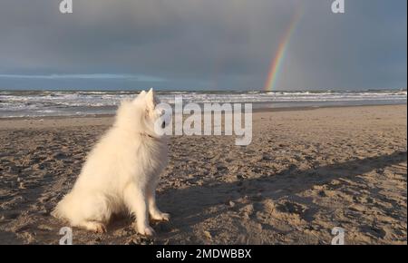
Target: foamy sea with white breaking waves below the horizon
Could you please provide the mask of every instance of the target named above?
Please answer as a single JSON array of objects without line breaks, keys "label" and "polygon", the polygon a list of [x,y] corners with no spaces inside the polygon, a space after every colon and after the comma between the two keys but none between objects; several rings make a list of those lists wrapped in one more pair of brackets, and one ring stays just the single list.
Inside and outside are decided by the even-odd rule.
[{"label": "foamy sea with white breaking waves below the horizon", "polygon": [[[47,116],[87,116],[113,114],[121,100],[139,91],[0,91],[0,118]],[[406,104],[406,90],[368,91],[159,91],[161,102],[174,104],[181,96],[183,104],[252,103],[253,109],[287,109],[352,105]]]}]

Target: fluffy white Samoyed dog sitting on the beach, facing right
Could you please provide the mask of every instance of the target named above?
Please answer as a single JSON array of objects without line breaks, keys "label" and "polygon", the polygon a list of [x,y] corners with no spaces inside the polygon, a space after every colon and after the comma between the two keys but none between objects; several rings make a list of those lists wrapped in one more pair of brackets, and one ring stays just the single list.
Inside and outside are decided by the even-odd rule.
[{"label": "fluffy white Samoyed dog sitting on the beach, facing right", "polygon": [[[168,161],[165,136],[168,124],[151,89],[134,100],[121,102],[112,128],[94,146],[73,190],[63,197],[52,215],[73,227],[105,232],[112,214],[129,211],[135,228],[151,236],[149,216],[169,220],[156,205],[155,189]],[[159,123],[159,125],[158,125]]]}]

